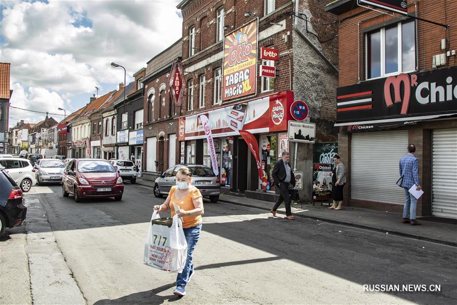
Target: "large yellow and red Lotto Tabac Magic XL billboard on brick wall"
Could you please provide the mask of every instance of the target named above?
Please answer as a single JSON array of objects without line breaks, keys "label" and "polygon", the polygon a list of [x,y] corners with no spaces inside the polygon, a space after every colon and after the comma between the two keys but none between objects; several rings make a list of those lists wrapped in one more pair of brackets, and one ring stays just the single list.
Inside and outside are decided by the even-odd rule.
[{"label": "large yellow and red Lotto Tabac Magic XL billboard on brick wall", "polygon": [[255,95],[257,87],[258,19],[224,39],[222,101]]}]

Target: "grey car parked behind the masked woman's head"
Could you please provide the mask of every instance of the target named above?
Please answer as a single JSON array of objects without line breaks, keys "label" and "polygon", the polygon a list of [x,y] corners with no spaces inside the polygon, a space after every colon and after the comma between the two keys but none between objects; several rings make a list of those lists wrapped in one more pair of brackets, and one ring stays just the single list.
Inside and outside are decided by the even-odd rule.
[{"label": "grey car parked behind the masked woman's head", "polygon": [[220,180],[208,166],[195,164],[179,164],[170,167],[155,179],[154,196],[168,195],[171,187],[176,185],[176,173],[180,167],[186,166],[192,173],[192,185],[197,187],[203,197],[209,197],[211,202],[217,202],[220,195]]}]

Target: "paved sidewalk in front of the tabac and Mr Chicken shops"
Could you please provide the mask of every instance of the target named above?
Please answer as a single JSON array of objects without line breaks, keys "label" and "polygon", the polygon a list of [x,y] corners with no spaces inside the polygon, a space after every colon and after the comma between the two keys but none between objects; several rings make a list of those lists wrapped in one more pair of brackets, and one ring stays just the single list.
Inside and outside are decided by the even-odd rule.
[{"label": "paved sidewalk in front of the tabac and Mr Chicken shops", "polygon": [[[137,183],[151,188],[154,185],[154,181],[143,179],[137,179]],[[231,195],[221,195],[219,201],[255,207],[266,211],[270,211],[274,205],[273,202]],[[394,212],[347,206],[343,206],[343,209],[335,211],[328,209],[327,207],[327,205],[320,206],[320,203],[316,203],[315,206],[312,204],[303,204],[302,209],[301,204],[298,203],[295,207],[292,207],[292,214],[295,217],[311,218],[319,221],[349,225],[357,228],[412,237],[457,247],[457,225],[454,224],[420,220],[420,218],[418,218],[418,221],[422,225],[411,226],[409,224],[403,224],[402,215]],[[277,215],[279,217],[285,216],[285,208],[283,205],[277,210]]]}]

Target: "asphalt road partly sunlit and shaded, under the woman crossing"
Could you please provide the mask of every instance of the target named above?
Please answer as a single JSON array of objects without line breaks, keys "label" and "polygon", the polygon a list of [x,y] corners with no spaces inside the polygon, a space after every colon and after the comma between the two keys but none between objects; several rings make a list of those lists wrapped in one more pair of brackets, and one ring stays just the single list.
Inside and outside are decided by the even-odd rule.
[{"label": "asphalt road partly sunlit and shaded, under the woman crossing", "polygon": [[[457,248],[208,200],[195,276],[177,298],[176,274],[142,263],[151,208],[164,201],[150,188],[127,182],[120,202],[76,203],[60,186],[35,187],[27,196],[43,205],[88,304],[457,303]],[[409,284],[440,285],[441,292],[363,286]]]}]

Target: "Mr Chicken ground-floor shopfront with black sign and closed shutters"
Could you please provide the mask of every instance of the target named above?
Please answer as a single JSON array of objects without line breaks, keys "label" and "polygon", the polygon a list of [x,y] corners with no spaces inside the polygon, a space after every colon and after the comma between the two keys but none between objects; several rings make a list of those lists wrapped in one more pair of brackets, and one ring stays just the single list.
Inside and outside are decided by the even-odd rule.
[{"label": "Mr Chicken ground-floor shopfront with black sign and closed shutters", "polygon": [[[401,211],[399,159],[416,145],[424,190],[418,216],[457,219],[457,66],[337,89],[346,204]],[[346,160],[344,160],[346,159]]]}]

